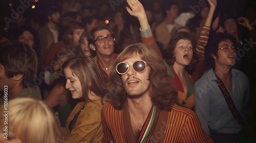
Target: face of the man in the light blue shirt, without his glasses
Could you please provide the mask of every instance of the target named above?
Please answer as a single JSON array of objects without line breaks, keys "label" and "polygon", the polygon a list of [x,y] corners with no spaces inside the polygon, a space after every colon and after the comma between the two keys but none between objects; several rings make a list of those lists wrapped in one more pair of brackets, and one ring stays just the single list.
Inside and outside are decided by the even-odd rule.
[{"label": "face of the man in the light blue shirt, without his glasses", "polygon": [[[221,47],[225,46],[234,46],[233,42],[229,39],[226,41],[221,41],[219,43],[218,49],[221,49]],[[217,52],[218,58],[216,55],[212,55],[212,58],[214,58],[215,61],[215,68],[222,67],[222,66],[228,66],[231,68],[234,64],[236,64],[236,57],[237,52],[236,50],[229,49],[228,52],[224,52],[223,50],[218,50]]]}]

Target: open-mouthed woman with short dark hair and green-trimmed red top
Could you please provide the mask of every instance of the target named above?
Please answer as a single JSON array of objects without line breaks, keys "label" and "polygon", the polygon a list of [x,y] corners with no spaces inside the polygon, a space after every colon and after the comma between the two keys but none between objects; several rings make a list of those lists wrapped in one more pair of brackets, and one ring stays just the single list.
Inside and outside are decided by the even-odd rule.
[{"label": "open-mouthed woman with short dark hair and green-trimmed red top", "polygon": [[173,85],[178,91],[178,102],[189,109],[194,109],[194,82],[186,69],[195,66],[196,48],[187,32],[178,32],[170,39],[167,46],[168,72]]}]

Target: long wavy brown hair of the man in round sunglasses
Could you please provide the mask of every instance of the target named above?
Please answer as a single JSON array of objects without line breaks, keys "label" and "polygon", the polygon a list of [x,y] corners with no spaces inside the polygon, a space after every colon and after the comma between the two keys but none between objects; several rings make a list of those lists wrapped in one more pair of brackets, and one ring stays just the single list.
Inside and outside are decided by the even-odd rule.
[{"label": "long wavy brown hair of the man in round sunglasses", "polygon": [[[154,105],[159,105],[162,110],[170,110],[173,103],[177,103],[177,92],[168,78],[167,67],[164,61],[156,54],[152,47],[136,43],[127,46],[122,53],[118,55],[114,61],[113,67],[125,59],[131,58],[134,54],[139,54],[141,59],[150,66],[149,79],[150,84],[150,97]],[[115,68],[110,73],[110,85],[107,89],[105,97],[110,99],[114,108],[123,109],[124,103],[127,99],[124,90],[121,75],[119,75]]]}]

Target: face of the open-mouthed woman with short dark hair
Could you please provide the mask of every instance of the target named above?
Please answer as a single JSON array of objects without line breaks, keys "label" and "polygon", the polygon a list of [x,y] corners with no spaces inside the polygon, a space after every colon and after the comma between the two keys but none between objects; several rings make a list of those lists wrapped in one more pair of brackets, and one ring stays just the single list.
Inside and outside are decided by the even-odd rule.
[{"label": "face of the open-mouthed woman with short dark hair", "polygon": [[189,65],[193,58],[193,47],[190,40],[180,39],[174,49],[174,64]]}]

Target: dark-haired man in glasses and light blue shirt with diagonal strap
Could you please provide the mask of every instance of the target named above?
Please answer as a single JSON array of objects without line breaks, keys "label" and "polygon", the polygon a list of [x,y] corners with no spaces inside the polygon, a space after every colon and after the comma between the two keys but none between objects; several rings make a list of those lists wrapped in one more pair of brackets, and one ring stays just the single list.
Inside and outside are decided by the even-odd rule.
[{"label": "dark-haired man in glasses and light blue shirt with diagonal strap", "polygon": [[195,110],[205,133],[215,142],[247,142],[242,136],[249,82],[236,64],[237,42],[217,33],[205,48],[206,74],[195,84]]}]

